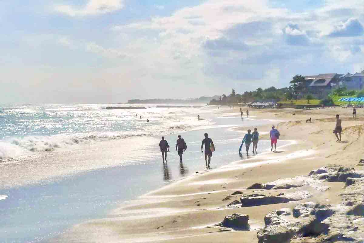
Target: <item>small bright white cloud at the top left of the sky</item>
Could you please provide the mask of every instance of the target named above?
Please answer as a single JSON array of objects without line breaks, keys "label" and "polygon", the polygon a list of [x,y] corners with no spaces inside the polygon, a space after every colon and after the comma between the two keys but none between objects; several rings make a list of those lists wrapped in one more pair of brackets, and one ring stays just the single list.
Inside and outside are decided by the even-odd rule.
[{"label": "small bright white cloud at the top left of the sky", "polygon": [[98,15],[122,9],[124,7],[123,2],[123,0],[89,0],[88,3],[82,7],[56,5],[55,10],[73,17]]}]

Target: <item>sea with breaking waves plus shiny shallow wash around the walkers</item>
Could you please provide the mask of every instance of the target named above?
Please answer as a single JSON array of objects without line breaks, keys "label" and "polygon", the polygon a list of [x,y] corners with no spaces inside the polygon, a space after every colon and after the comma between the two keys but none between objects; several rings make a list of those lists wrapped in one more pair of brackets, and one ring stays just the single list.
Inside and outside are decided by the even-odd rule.
[{"label": "sea with breaking waves plus shiny shallow wash around the walkers", "polygon": [[[221,109],[214,106],[106,110],[107,106],[116,105],[0,109],[1,241],[47,240],[73,224],[107,217],[123,201],[205,170],[205,132],[216,148],[211,169],[245,159],[237,153],[244,133],[230,128],[252,129],[269,122],[215,114]],[[197,114],[203,120],[198,121]],[[175,151],[178,134],[188,146],[182,163]],[[161,136],[171,146],[165,164],[158,148]],[[265,151],[270,144],[260,141],[259,146]]]}]

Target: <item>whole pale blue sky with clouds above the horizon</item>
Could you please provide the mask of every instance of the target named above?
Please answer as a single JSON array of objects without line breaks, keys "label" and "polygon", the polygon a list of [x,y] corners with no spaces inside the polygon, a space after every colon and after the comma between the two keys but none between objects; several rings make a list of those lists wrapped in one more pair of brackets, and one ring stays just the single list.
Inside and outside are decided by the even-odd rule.
[{"label": "whole pale blue sky with clouds above the horizon", "polygon": [[12,0],[0,28],[0,103],[195,98],[364,69],[363,0]]}]

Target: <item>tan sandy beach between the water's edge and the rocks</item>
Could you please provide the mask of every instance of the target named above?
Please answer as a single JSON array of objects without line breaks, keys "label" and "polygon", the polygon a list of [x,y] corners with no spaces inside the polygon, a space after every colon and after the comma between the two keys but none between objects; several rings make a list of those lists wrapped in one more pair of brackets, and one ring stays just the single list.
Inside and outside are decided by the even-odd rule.
[{"label": "tan sandy beach between the water's edge and the rocks", "polygon": [[[257,118],[286,121],[276,124],[280,139],[294,142],[279,147],[278,141],[278,153],[262,153],[220,169],[202,171],[150,192],[121,205],[108,218],[79,224],[52,242],[257,242],[256,229],[264,227],[266,213],[282,207],[293,208],[297,203],[227,208],[227,204],[239,200],[239,195],[224,199],[235,191],[244,192],[253,183],[308,175],[327,164],[355,167],[364,150],[364,136],[361,136],[364,119],[360,117],[361,109],[356,120],[351,118],[351,112],[352,109],[340,108],[250,109],[250,115]],[[343,142],[335,142],[332,133],[335,114],[340,114],[343,120]],[[306,123],[310,117],[312,123]],[[261,134],[269,129],[258,128]],[[267,139],[268,133],[260,137],[260,140]],[[343,184],[330,183],[329,187],[324,192],[312,191],[310,200],[339,203],[336,192]],[[248,214],[251,230],[207,228],[232,213]]]}]

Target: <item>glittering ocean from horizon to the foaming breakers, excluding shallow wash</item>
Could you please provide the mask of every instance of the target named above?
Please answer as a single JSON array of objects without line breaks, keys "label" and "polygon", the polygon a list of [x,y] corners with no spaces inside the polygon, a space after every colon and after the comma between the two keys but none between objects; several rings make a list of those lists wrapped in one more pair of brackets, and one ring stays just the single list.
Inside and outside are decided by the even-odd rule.
[{"label": "glittering ocean from horizon to the foaming breakers, excluding shallow wash", "polygon": [[0,106],[0,158],[68,149],[82,143],[166,134],[209,124],[188,115],[206,112],[202,106],[201,109],[157,108],[145,104],[140,106],[148,109],[107,110],[108,106],[128,105]]}]

